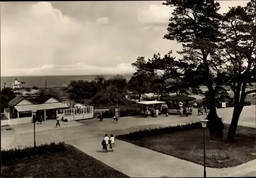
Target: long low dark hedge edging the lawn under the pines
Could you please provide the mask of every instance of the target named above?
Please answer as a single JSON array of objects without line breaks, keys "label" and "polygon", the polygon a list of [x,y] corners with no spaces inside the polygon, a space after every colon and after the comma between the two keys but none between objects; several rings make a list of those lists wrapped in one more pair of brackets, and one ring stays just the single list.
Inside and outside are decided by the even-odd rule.
[{"label": "long low dark hedge edging the lawn under the pines", "polygon": [[164,133],[173,133],[184,130],[192,130],[196,128],[202,127],[201,122],[190,122],[184,125],[176,125],[176,126],[167,126],[167,127],[158,127],[158,128],[144,128],[140,130],[136,130],[130,132],[126,135],[116,136],[117,139],[120,140],[143,140],[146,137],[159,136]]}]

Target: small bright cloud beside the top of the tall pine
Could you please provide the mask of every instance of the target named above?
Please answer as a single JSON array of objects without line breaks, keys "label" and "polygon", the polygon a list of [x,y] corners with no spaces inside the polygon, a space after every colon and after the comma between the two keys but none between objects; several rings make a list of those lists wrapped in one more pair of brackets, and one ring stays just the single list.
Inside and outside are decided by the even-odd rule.
[{"label": "small bright cloud beside the top of the tall pine", "polygon": [[163,5],[151,5],[149,9],[142,11],[138,21],[142,24],[167,24],[172,15],[172,8]]}]

